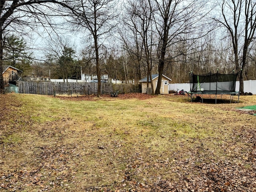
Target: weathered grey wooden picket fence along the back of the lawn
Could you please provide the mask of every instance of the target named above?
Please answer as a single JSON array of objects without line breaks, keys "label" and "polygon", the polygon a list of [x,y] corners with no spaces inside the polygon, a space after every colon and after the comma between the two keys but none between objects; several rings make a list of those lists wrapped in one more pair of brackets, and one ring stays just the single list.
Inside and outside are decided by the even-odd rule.
[{"label": "weathered grey wooden picket fence along the back of the lawn", "polygon": [[[25,94],[68,94],[73,96],[73,94],[92,95],[98,92],[98,83],[18,81],[16,85],[19,88],[19,93]],[[110,94],[116,91],[118,91],[119,94],[141,92],[141,86],[140,84],[101,84],[101,94]]]}]

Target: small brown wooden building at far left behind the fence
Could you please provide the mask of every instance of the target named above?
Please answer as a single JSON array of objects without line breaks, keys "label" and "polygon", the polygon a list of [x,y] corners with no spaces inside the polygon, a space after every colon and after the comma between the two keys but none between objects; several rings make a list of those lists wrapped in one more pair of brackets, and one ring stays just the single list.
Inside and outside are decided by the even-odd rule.
[{"label": "small brown wooden building at far left behind the fence", "polygon": [[3,66],[3,79],[4,84],[14,84],[16,85],[16,81],[20,80],[19,74],[22,70],[19,70],[15,67],[4,65]]}]

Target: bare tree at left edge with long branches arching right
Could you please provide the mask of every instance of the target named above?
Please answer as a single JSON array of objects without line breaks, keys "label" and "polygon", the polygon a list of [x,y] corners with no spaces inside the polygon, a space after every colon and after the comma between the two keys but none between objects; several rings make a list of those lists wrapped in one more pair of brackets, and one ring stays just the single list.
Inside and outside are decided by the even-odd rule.
[{"label": "bare tree at left edge with long branches arching right", "polygon": [[26,30],[29,28],[34,30],[39,24],[42,26],[52,26],[52,16],[65,15],[64,12],[59,11],[57,5],[68,7],[66,6],[67,1],[0,0],[0,90],[4,88],[2,77],[4,36],[12,32],[27,34],[28,31]]}]

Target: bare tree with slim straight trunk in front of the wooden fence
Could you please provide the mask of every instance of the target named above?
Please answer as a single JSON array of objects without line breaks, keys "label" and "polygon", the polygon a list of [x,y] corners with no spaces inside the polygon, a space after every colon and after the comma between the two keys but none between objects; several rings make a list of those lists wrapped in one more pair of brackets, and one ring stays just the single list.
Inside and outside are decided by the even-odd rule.
[{"label": "bare tree with slim straight trunk in front of the wooden fence", "polygon": [[72,12],[73,19],[69,20],[80,30],[88,30],[90,37],[92,37],[98,77],[98,97],[100,96],[101,88],[99,49],[110,31],[116,26],[114,19],[117,18],[118,14],[115,6],[114,0],[78,0]]}]

